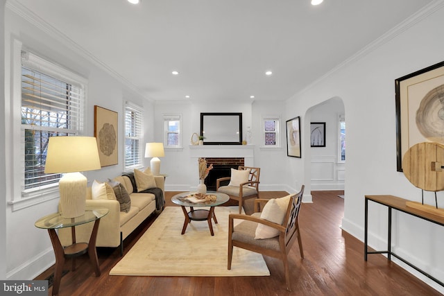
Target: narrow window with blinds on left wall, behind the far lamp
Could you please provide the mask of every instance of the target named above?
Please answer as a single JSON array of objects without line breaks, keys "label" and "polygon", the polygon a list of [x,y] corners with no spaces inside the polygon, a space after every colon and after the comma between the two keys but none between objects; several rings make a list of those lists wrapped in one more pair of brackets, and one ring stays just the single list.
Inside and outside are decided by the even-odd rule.
[{"label": "narrow window with blinds on left wall, behind the far lamp", "polygon": [[142,167],[142,109],[133,104],[125,106],[125,171]]}]

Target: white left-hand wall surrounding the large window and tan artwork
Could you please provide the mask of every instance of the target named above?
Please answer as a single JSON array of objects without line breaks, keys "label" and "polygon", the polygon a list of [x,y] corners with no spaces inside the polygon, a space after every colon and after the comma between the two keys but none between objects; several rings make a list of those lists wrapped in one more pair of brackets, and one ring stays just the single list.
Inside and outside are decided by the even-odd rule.
[{"label": "white left-hand wall surrounding the large window and tan artwork", "polygon": [[[3,10],[5,1],[1,1],[1,8]],[[1,11],[0,11],[1,12]],[[1,14],[3,15],[3,13]],[[30,17],[28,15],[28,17]],[[2,18],[3,21],[3,18]],[[5,93],[1,94],[6,97],[6,100],[1,100],[1,111],[5,114],[5,121],[1,125],[0,133],[6,141],[5,153],[6,159],[0,158],[1,171],[0,180],[6,180],[6,188],[2,204],[6,204],[14,197],[19,197],[19,190],[12,186],[12,168],[20,162],[21,159],[13,159],[13,150],[17,149],[17,134],[12,131],[12,110],[10,108],[10,99],[12,99],[11,85],[11,56],[13,40],[19,40],[23,45],[37,55],[48,58],[51,62],[60,64],[62,67],[74,71],[80,76],[87,78],[87,114],[85,114],[85,135],[94,135],[94,105],[99,105],[107,109],[119,113],[119,164],[115,166],[108,166],[102,168],[100,171],[88,172],[87,177],[89,182],[97,179],[101,181],[107,180],[108,177],[114,177],[123,172],[123,139],[124,139],[124,121],[123,110],[125,101],[132,101],[144,107],[145,114],[145,137],[153,137],[153,104],[149,103],[145,98],[137,94],[130,87],[123,85],[118,76],[114,75],[108,70],[97,66],[93,59],[89,58],[83,51],[78,50],[76,44],[72,44],[65,37],[60,35],[53,28],[49,28],[45,24],[39,22],[38,19],[33,19],[32,15],[30,21],[35,22],[35,26],[25,21],[24,18],[12,12],[8,6],[5,12],[5,36],[1,38],[5,46],[1,46],[1,51],[5,49]],[[0,53],[1,53],[0,51]],[[3,57],[3,54],[1,55]],[[3,62],[3,60],[2,60]],[[0,67],[3,69],[3,67]],[[3,75],[3,73],[2,73]],[[3,83],[3,79],[1,79]],[[3,87],[0,87],[3,89]],[[6,125],[6,131],[4,126]],[[3,143],[2,143],[3,145]],[[2,149],[3,152],[3,149]],[[3,161],[6,164],[3,164]],[[6,176],[5,176],[6,175]],[[27,207],[18,211],[12,211],[8,204],[6,210],[3,206],[0,207],[6,215],[0,217],[6,218],[7,223],[0,223],[1,232],[3,234],[3,227],[6,225],[6,235],[1,237],[6,240],[1,240],[2,245],[0,252],[3,251],[3,243],[7,243],[6,252],[1,252],[1,273],[2,279],[33,279],[40,272],[49,268],[54,263],[54,254],[51,247],[51,241],[48,233],[44,229],[37,229],[34,226],[35,221],[47,214],[57,211],[58,199],[49,200],[36,204],[32,207]],[[6,265],[6,275],[3,272],[3,264]]]}]

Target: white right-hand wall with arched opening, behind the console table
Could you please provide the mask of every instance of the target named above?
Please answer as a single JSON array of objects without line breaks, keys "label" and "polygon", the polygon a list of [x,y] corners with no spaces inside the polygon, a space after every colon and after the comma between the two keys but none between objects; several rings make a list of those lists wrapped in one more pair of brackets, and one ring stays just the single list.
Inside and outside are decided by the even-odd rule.
[{"label": "white right-hand wall with arched opening, behind the console table", "polygon": [[[362,51],[287,102],[286,110],[298,110],[302,126],[307,131],[307,110],[330,98],[343,100],[347,122],[347,160],[342,227],[361,240],[364,239],[364,195],[391,194],[420,201],[420,190],[396,171],[394,81],[443,61],[443,1],[435,1],[431,7],[434,6],[436,12],[429,10],[424,15],[416,15],[411,22],[386,35],[386,39],[381,38],[378,43],[371,44],[371,50]],[[298,114],[287,112],[287,116]],[[290,159],[287,169],[294,178],[304,177],[308,184],[310,161],[306,159],[304,162],[304,157],[309,149],[309,133],[302,134],[302,139],[302,159]],[[438,193],[441,207],[443,195]],[[432,202],[429,199],[429,203]],[[370,204],[369,219],[370,246],[386,250],[386,208]],[[444,228],[399,213],[394,214],[393,219],[395,252],[444,281],[444,257],[441,254]],[[418,275],[404,264],[400,265]],[[419,277],[444,292],[444,288],[434,281],[422,275]]]}]

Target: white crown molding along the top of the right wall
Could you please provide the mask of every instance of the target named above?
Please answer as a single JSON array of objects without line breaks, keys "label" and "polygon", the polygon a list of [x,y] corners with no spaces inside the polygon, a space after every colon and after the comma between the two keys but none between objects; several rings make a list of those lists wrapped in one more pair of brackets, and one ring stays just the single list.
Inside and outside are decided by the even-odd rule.
[{"label": "white crown molding along the top of the right wall", "polygon": [[[444,7],[444,0],[434,0],[418,10],[418,12],[415,12],[413,15],[402,21],[400,24],[396,25],[395,27],[391,28],[391,30],[387,31],[382,35],[381,37],[378,37],[375,41],[371,42],[367,46],[364,47],[364,49],[361,49],[360,51],[357,51],[354,55],[352,55],[347,60],[341,62],[341,64],[337,65],[327,73],[325,73],[320,78],[314,80],[314,82],[311,82],[307,87],[304,87],[300,90],[300,92],[297,92],[293,96],[298,96],[300,94],[303,94],[307,92],[308,89],[311,89],[311,87],[314,87],[314,85],[318,84],[322,80],[328,78],[329,76],[332,76],[334,73],[338,72],[339,70],[346,67],[348,64],[351,64],[352,62],[355,62],[357,60],[360,60],[361,58],[364,58],[364,56],[368,55],[368,53],[371,53],[378,49],[380,46],[386,44],[387,42],[393,40],[393,38],[397,37],[401,33],[404,33],[404,31],[407,31],[412,26],[418,24],[422,19],[425,19],[429,17],[429,15],[432,15],[437,10],[440,10]],[[291,96],[291,97],[293,97]]]}]

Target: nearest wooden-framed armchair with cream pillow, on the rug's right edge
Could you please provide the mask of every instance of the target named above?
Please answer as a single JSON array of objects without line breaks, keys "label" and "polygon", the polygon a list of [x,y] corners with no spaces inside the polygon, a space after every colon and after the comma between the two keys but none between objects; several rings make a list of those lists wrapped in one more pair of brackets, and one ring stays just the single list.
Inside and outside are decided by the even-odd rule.
[{"label": "nearest wooden-framed armchair with cream pillow, on the rug's right edge", "polygon": [[[255,200],[255,213],[251,216],[230,214],[228,220],[228,270],[231,269],[233,247],[241,247],[266,256],[272,256],[284,263],[287,290],[291,290],[287,256],[291,246],[298,239],[299,252],[304,258],[300,240],[298,215],[305,186],[299,193],[284,198]],[[258,213],[259,204],[265,204]],[[234,219],[243,220],[234,227]]]}]

